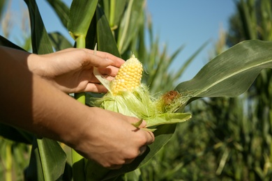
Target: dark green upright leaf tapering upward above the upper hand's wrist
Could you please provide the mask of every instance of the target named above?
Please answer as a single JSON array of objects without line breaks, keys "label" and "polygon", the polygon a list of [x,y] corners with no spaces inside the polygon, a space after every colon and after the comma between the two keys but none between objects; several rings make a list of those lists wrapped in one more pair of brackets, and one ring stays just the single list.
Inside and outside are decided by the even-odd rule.
[{"label": "dark green upright leaf tapering upward above the upper hand's wrist", "polygon": [[43,19],[40,17],[40,12],[36,1],[24,0],[29,8],[30,26],[31,26],[31,40],[33,53],[49,54],[53,52],[50,44],[47,31],[43,24]]}]

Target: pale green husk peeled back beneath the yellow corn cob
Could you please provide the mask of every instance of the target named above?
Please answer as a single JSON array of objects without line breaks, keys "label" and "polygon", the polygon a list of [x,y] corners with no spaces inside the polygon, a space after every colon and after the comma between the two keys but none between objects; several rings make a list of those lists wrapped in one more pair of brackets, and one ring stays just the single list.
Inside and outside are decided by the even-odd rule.
[{"label": "pale green husk peeled back beneath the yellow corn cob", "polygon": [[[156,128],[157,125],[182,123],[190,119],[190,113],[174,112],[183,106],[183,102],[181,96],[176,96],[172,102],[165,104],[162,97],[156,100],[150,95],[149,88],[141,84],[133,92],[122,91],[119,95],[112,95],[109,91],[101,98],[92,98],[90,104],[146,120],[147,128]],[[155,129],[149,130],[154,131]]]}]

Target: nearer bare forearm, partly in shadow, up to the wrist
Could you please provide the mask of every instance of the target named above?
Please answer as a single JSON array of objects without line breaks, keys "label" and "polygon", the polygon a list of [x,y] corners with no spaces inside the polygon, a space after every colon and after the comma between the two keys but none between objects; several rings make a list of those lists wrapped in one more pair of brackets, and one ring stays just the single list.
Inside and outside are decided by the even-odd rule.
[{"label": "nearer bare forearm, partly in shadow, up to the wrist", "polygon": [[58,141],[73,142],[82,129],[84,105],[1,51],[0,121]]}]

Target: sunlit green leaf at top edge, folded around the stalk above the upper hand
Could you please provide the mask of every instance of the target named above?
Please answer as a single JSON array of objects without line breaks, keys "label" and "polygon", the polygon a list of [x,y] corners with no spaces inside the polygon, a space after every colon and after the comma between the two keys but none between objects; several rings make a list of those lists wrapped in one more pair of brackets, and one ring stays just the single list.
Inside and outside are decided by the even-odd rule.
[{"label": "sunlit green leaf at top edge, folded around the stalk above the upper hand", "polygon": [[86,37],[98,0],[74,0],[70,6],[68,31],[75,40]]}]

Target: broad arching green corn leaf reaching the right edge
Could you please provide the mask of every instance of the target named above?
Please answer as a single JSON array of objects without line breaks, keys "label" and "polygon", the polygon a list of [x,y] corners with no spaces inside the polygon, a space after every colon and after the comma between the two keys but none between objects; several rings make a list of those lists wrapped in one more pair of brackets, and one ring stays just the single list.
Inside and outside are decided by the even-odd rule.
[{"label": "broad arching green corn leaf reaching the right edge", "polygon": [[248,40],[207,63],[190,81],[176,87],[192,97],[236,97],[244,93],[264,68],[272,68],[272,42]]}]

